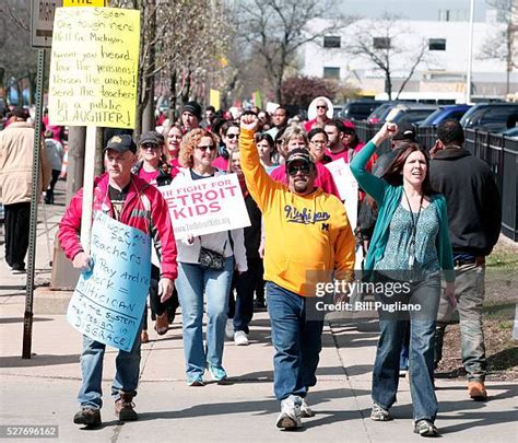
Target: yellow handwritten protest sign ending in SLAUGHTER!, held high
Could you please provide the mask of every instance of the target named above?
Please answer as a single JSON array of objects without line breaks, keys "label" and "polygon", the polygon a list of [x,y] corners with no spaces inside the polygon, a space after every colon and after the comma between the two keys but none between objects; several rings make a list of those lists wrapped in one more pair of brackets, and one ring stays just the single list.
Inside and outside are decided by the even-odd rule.
[{"label": "yellow handwritten protest sign ending in SLAUGHTER!, held high", "polygon": [[50,123],[134,128],[139,44],[139,11],[58,8],[50,59]]}]

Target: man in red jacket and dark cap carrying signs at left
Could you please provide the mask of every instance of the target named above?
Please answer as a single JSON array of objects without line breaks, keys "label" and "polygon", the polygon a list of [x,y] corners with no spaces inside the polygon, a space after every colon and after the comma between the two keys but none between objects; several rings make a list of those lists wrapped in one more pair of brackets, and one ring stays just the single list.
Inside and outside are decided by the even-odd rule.
[{"label": "man in red jacket and dark cap carrying signs at left", "polygon": [[[113,137],[104,150],[107,173],[97,177],[94,185],[93,211],[103,212],[128,226],[149,234],[161,259],[158,293],[162,302],[173,294],[176,279],[176,244],[167,203],[154,187],[131,174],[137,145],[128,135]],[[58,238],[74,268],[87,270],[92,258],[84,252],[78,233],[81,226],[83,189],[72,198],[61,220]],[[146,296],[146,294],[142,294]],[[119,350],[116,359],[117,373],[111,386],[115,412],[120,421],[138,419],[132,399],[137,395],[140,371],[140,331],[129,352]],[[101,425],[103,406],[101,385],[103,358],[106,346],[83,337],[81,354],[82,386],[78,395],[81,410],[73,421],[94,428]]]}]

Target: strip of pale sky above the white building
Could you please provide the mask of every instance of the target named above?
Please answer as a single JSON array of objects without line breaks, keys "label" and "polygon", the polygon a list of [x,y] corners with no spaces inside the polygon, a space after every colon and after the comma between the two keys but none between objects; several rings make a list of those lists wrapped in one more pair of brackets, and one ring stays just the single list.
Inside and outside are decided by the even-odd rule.
[{"label": "strip of pale sky above the white building", "polygon": [[[437,20],[439,10],[450,10],[450,16],[469,18],[470,0],[338,0],[345,13],[366,18],[384,11],[411,20]],[[475,0],[475,21],[485,20],[485,0]]]}]

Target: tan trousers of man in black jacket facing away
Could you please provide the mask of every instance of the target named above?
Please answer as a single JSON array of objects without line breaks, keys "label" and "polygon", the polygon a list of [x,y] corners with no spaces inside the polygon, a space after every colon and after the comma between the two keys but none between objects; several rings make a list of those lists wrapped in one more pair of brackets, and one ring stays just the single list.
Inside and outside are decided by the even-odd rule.
[{"label": "tan trousers of man in black jacket facing away", "polygon": [[[462,364],[470,382],[483,382],[487,373],[482,306],[485,295],[485,265],[466,264],[455,267],[455,296],[460,319],[460,348]],[[435,362],[443,358],[443,339],[446,325],[451,323],[452,308],[442,298],[437,317]]]}]

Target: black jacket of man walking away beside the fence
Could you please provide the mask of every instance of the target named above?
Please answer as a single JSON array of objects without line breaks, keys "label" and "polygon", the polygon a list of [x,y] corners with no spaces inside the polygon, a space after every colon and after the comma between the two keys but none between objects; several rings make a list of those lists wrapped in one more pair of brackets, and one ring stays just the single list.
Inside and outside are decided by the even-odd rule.
[{"label": "black jacket of man walking away beside the fence", "polygon": [[429,180],[448,202],[454,255],[490,255],[502,224],[501,196],[490,167],[463,148],[446,147],[431,161]]}]

